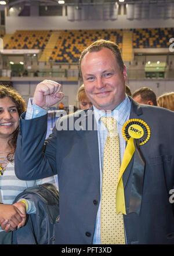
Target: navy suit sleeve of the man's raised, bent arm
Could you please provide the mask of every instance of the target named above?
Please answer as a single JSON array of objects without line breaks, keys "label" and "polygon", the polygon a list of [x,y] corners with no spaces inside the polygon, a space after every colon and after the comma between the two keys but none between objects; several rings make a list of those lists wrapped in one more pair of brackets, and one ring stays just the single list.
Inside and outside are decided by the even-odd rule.
[{"label": "navy suit sleeve of the man's raised, bent arm", "polygon": [[57,130],[45,141],[47,115],[25,120],[20,117],[14,157],[15,173],[21,180],[43,179],[56,175]]}]

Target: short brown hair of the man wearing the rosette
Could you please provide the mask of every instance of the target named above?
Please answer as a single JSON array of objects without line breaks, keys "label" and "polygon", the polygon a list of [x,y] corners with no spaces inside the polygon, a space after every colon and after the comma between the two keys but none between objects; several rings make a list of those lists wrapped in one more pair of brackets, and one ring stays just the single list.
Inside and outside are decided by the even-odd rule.
[{"label": "short brown hair of the man wearing the rosette", "polygon": [[121,71],[124,69],[124,62],[122,60],[121,51],[120,51],[118,45],[115,44],[115,42],[100,39],[100,40],[93,42],[91,45],[89,45],[89,47],[87,47],[86,49],[84,49],[84,51],[82,51],[81,56],[79,58],[79,72],[80,72],[81,76],[82,76],[81,62],[82,62],[82,59],[84,58],[84,56],[88,52],[99,52],[102,48],[110,49],[113,52],[113,54],[115,55],[115,59],[118,62],[118,65],[119,65]]}]

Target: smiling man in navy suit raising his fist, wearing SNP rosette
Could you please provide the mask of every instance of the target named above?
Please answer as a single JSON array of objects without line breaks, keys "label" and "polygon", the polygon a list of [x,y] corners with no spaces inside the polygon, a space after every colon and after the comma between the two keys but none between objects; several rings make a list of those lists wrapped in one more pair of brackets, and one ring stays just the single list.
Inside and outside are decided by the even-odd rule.
[{"label": "smiling man in navy suit raising his fist, wearing SNP rosette", "polygon": [[15,156],[17,177],[30,180],[58,175],[60,219],[55,225],[55,243],[100,244],[107,137],[100,117],[114,116],[121,162],[128,158],[126,141],[129,144],[134,136],[130,137],[130,130],[144,134],[140,139],[137,134],[133,137],[133,141],[138,141],[136,151],[122,175],[125,243],[173,244],[174,220],[169,197],[174,180],[174,113],[138,104],[126,96],[126,67],[113,42],[94,42],[82,52],[79,67],[93,107],[57,120],[45,141],[45,109],[60,101],[63,94],[54,81],[39,83],[30,117],[27,110],[20,118]]}]

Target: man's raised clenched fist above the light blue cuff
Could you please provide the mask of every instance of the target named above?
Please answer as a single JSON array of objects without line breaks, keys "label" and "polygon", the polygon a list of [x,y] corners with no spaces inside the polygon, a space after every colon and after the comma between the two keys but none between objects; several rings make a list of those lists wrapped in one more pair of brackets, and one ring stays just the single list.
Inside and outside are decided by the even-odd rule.
[{"label": "man's raised clenched fist above the light blue cuff", "polygon": [[60,92],[61,85],[52,80],[44,80],[39,83],[34,92],[32,104],[48,108],[61,101],[64,94]]}]

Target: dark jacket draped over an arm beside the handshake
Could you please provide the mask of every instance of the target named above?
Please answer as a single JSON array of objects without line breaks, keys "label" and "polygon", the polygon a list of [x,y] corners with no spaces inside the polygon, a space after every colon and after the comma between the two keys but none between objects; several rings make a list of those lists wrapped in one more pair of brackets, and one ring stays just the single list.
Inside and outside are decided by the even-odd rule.
[{"label": "dark jacket draped over an arm beside the handshake", "polygon": [[17,195],[34,201],[36,214],[27,215],[26,225],[13,232],[13,244],[53,244],[59,222],[59,191],[53,184],[30,187]]}]

